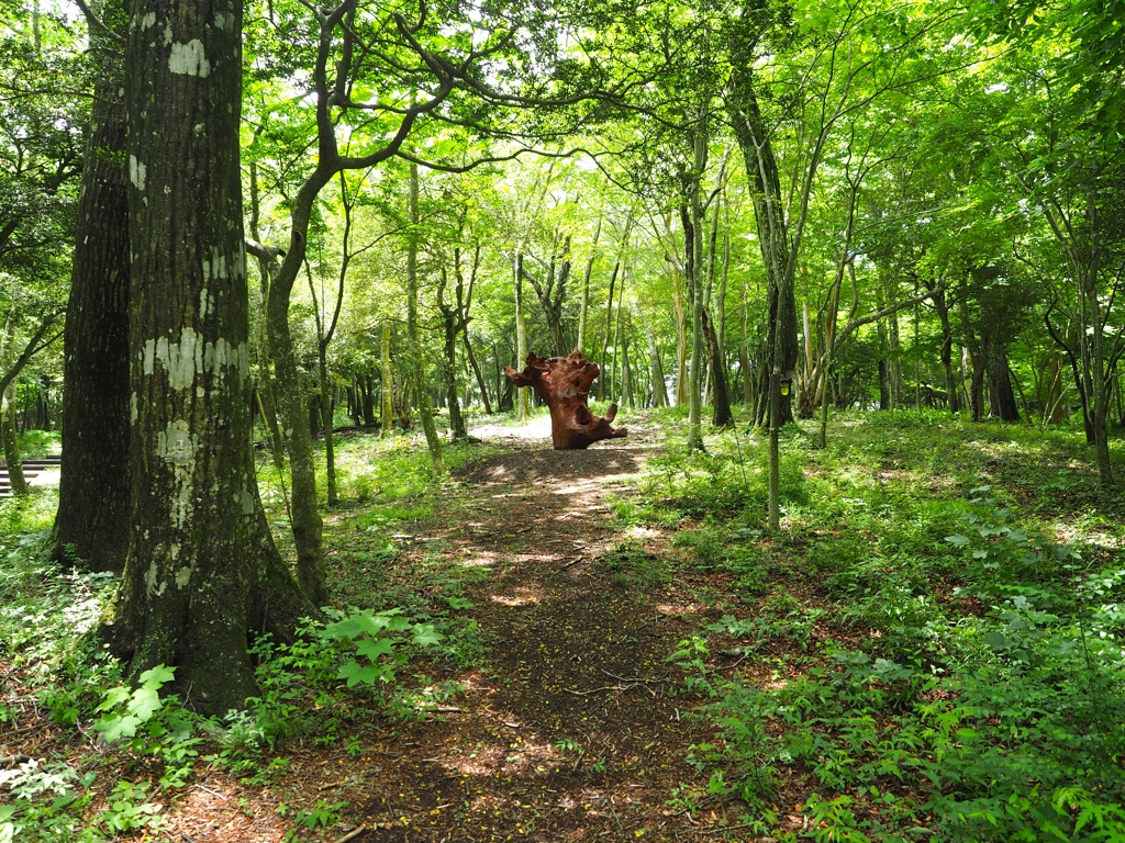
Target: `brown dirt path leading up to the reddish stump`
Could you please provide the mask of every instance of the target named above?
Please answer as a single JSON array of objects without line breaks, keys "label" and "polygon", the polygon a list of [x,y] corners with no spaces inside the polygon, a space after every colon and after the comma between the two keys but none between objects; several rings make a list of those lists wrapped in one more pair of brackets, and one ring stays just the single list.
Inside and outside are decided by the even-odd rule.
[{"label": "brown dirt path leading up to the reddish stump", "polygon": [[353,840],[722,840],[668,806],[698,778],[688,745],[705,740],[684,716],[698,700],[677,696],[683,676],[667,663],[699,628],[698,607],[646,568],[658,534],[626,535],[608,500],[633,483],[654,438],[630,429],[558,452],[526,434],[458,473],[459,493],[404,560],[489,571],[464,592],[488,652],[456,674],[459,710],[379,744]]}]

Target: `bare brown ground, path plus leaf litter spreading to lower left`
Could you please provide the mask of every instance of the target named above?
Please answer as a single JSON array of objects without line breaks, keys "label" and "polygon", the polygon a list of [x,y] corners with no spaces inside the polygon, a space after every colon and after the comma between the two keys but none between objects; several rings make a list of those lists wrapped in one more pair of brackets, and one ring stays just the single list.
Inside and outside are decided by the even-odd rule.
[{"label": "bare brown ground, path plus leaf litter spreading to lower left", "polygon": [[[714,578],[666,575],[664,536],[622,527],[610,505],[657,451],[654,436],[632,427],[557,452],[547,418],[474,435],[498,452],[454,470],[435,513],[395,536],[384,586],[428,588],[429,571],[430,590],[448,593],[449,571],[462,574],[452,602],[487,643],[479,665],[412,663],[456,692],[418,722],[360,724],[346,751],[286,751],[271,791],[201,778],[169,813],[169,839],[279,840],[279,803],[342,814],[331,830],[302,830],[307,840],[731,839],[737,819],[721,807],[693,815],[673,801],[698,785],[685,759],[708,734],[668,656],[721,614],[721,600],[700,602]],[[346,565],[350,518],[328,522],[332,558]]]}]

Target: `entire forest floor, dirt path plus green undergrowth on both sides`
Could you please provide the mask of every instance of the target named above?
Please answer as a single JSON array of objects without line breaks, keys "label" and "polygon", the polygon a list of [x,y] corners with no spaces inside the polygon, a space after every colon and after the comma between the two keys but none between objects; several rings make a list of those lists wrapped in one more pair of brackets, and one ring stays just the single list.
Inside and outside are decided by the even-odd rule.
[{"label": "entire forest floor, dirt path plus green undergrowth on both sides", "polygon": [[[1086,689],[1125,687],[1119,647],[1052,643],[1122,625],[1125,501],[1098,488],[1074,435],[855,416],[818,451],[794,428],[770,537],[760,438],[714,432],[709,454],[686,455],[681,422],[642,414],[628,438],[572,452],[550,448],[546,416],[478,427],[438,482],[416,437],[344,437],[343,502],[325,511],[339,617],[394,609],[443,640],[403,635],[394,682],[344,689],[346,654],[318,663],[328,640],[314,633],[288,667],[263,661],[252,714],[197,722],[190,740],[174,706],[132,747],[90,728],[119,674],[60,661],[47,640],[92,620],[111,583],[34,554],[19,568],[35,534],[11,529],[0,786],[38,767],[16,815],[0,791],[0,843],[12,818],[35,843],[1006,840],[1027,825],[1010,809],[1027,792],[1014,728],[1041,736],[1015,749],[1046,759],[1032,769],[1052,801],[1034,812],[1074,823],[1092,800],[1125,834],[1098,789],[1117,769],[1108,750],[1083,756],[1089,780],[1056,760],[1125,720],[1108,690],[1082,708]],[[33,497],[20,529],[44,531],[53,506]],[[1032,600],[1060,608],[1025,623]],[[1016,643],[1042,658],[1009,659]],[[63,678],[44,683],[36,663]],[[970,783],[951,787],[947,769]]]}]

